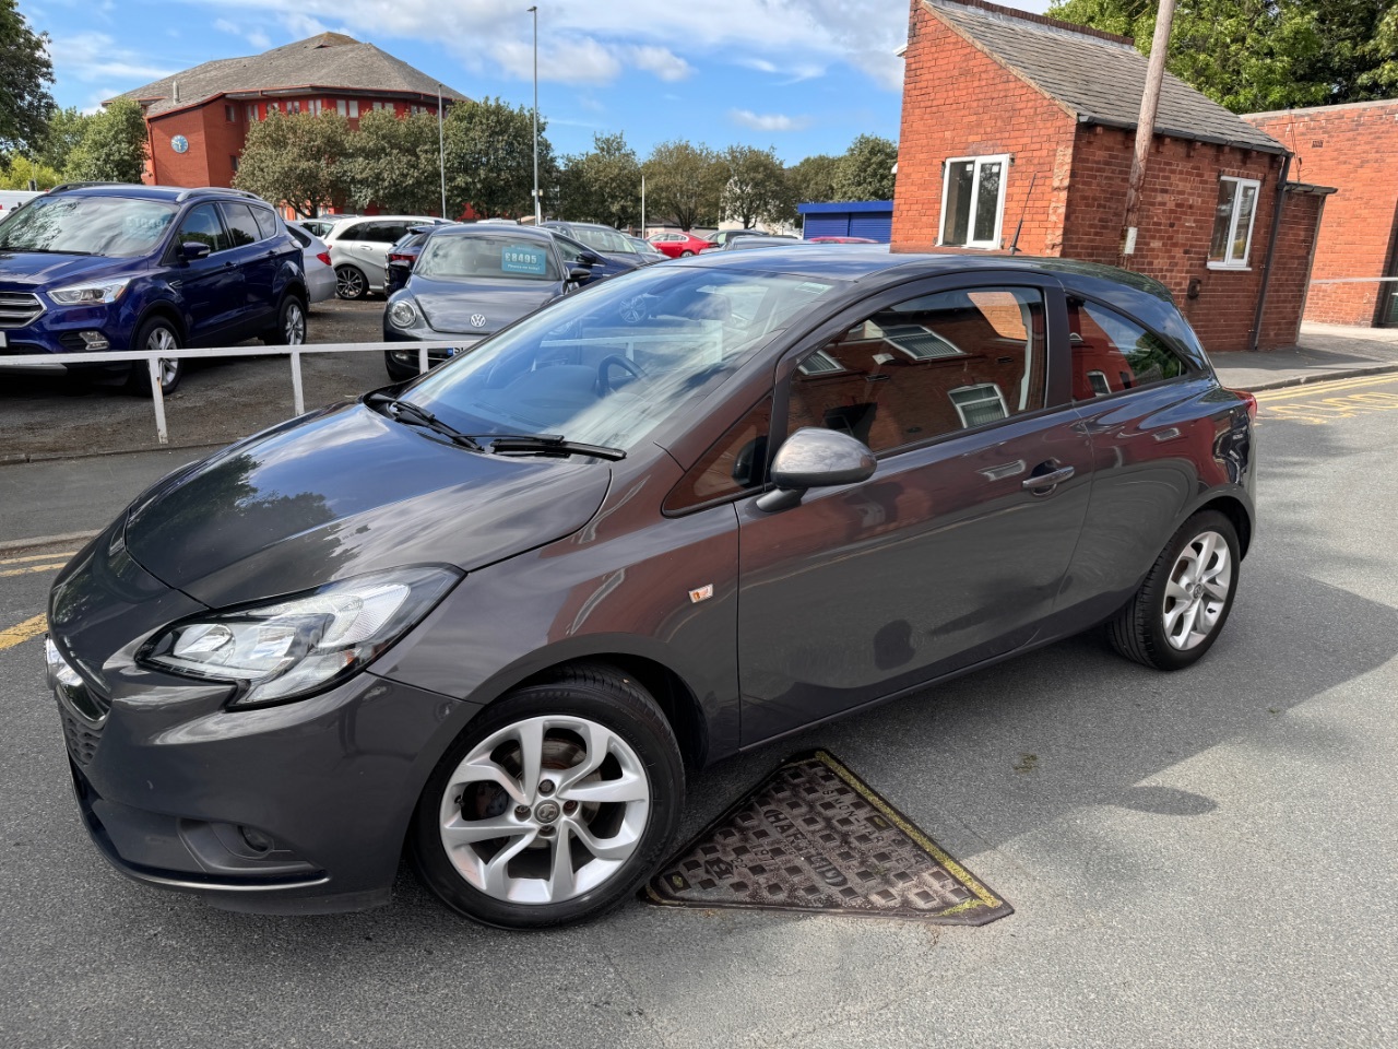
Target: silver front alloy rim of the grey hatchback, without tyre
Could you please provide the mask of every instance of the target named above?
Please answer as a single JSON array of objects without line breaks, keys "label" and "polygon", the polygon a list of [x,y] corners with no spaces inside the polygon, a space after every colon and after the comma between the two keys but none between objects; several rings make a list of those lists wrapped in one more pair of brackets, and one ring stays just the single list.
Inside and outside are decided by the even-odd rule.
[{"label": "silver front alloy rim of the grey hatchback, without tyre", "polygon": [[471,748],[439,806],[457,873],[510,904],[561,904],[604,885],[635,853],[650,778],[626,740],[577,716],[528,718]]}]

